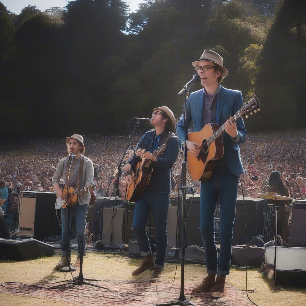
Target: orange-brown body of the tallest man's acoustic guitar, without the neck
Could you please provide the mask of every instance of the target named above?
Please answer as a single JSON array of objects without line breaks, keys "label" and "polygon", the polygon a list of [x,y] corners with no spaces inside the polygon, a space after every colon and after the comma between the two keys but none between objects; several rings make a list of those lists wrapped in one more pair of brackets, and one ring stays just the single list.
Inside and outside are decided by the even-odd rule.
[{"label": "orange-brown body of the tallest man's acoustic guitar, without the neck", "polygon": [[207,148],[206,139],[212,136],[221,125],[207,124],[199,132],[189,132],[188,140],[202,146],[198,157],[189,151],[187,152],[187,161],[189,173],[194,181],[207,181],[215,170],[218,159],[224,154],[222,137],[217,138]]}]

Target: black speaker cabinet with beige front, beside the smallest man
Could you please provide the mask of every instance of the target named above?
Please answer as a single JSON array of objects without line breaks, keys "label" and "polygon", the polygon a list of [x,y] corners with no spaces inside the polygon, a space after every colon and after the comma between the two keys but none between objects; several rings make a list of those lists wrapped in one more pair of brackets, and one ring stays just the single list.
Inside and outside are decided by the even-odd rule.
[{"label": "black speaker cabinet with beige front, beside the smallest man", "polygon": [[55,192],[21,191],[19,236],[43,240],[60,235],[61,229],[54,204]]}]

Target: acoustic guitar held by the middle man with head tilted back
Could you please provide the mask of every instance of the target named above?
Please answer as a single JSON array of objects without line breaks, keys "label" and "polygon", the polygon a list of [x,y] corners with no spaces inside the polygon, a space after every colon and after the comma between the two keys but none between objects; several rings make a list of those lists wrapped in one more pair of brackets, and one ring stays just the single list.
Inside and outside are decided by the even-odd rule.
[{"label": "acoustic guitar held by the middle man with head tilted back", "polygon": [[[166,150],[167,144],[153,151],[153,156],[158,157]],[[133,168],[135,177],[131,184],[127,184],[125,199],[130,202],[137,202],[144,192],[144,188],[149,184],[154,167],[151,159],[141,159]]]}]

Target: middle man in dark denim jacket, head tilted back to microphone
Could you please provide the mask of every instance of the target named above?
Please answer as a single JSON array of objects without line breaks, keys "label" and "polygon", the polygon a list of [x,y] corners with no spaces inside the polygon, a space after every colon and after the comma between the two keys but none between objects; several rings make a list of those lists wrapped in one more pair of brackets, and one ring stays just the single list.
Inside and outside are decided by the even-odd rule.
[{"label": "middle man in dark denim jacket, head tilted back to microphone", "polygon": [[[123,171],[131,170],[141,159],[151,159],[154,167],[149,184],[144,189],[140,199],[135,204],[133,230],[143,257],[139,268],[132,272],[137,275],[147,269],[153,270],[150,281],[158,282],[164,267],[167,250],[167,214],[171,168],[178,155],[178,139],[171,132],[175,127],[174,114],[167,106],[156,107],[153,110],[151,124],[155,129],[146,132],[137,145],[136,154],[129,159]],[[159,157],[153,156],[153,151],[166,144],[166,150]],[[127,183],[132,182],[132,176],[126,176]],[[156,231],[156,259],[152,256],[149,239],[145,230],[150,211],[154,217]]]}]

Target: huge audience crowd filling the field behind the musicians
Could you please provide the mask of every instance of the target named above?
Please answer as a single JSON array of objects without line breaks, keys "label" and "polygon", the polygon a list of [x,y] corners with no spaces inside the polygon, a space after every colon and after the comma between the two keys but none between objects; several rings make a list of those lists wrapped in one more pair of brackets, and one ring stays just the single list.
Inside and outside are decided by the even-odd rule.
[{"label": "huge audience crowd filling the field behind the musicians", "polygon": [[[132,140],[136,147],[140,136]],[[97,169],[94,193],[97,196],[110,196],[115,190],[118,164],[127,146],[127,137],[118,135],[85,135],[84,144],[88,156]],[[1,145],[0,184],[10,191],[37,190],[53,191],[51,180],[60,159],[67,155],[64,138],[38,138],[9,141]],[[280,133],[248,134],[240,146],[244,175],[241,182],[244,195],[256,196],[267,190],[269,176],[278,170],[282,179],[289,182],[291,196],[306,199],[306,136],[304,131]],[[127,151],[119,169],[119,193],[125,194],[125,173],[122,166],[134,154],[133,148]],[[173,166],[172,190],[177,192],[181,182],[180,152]],[[199,193],[200,182],[187,177],[189,192]],[[241,194],[241,186],[239,186]]]}]

